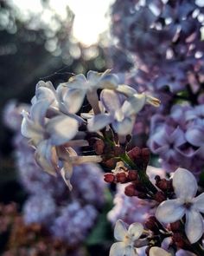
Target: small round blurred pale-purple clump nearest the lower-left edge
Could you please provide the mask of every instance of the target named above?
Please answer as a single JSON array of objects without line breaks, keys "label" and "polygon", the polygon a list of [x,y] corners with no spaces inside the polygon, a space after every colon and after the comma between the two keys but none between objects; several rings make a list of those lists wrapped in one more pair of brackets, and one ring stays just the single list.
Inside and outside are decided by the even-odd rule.
[{"label": "small round blurred pale-purple clump nearest the lower-left edge", "polygon": [[50,225],[53,221],[57,208],[53,197],[46,194],[31,195],[23,206],[23,218],[26,224],[40,223]]}]

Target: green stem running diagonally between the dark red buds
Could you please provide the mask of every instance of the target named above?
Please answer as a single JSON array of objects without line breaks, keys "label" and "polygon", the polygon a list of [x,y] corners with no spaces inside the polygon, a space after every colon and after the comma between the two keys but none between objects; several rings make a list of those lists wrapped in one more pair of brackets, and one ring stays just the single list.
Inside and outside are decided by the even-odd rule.
[{"label": "green stem running diagonally between the dark red buds", "polygon": [[127,153],[121,154],[120,159],[124,161],[125,164],[127,164],[131,169],[137,170],[137,174],[139,177],[139,180],[143,182],[143,185],[148,188],[153,194],[156,194],[157,189],[156,187],[151,183],[150,178],[146,174],[145,170],[138,167],[129,157]]}]

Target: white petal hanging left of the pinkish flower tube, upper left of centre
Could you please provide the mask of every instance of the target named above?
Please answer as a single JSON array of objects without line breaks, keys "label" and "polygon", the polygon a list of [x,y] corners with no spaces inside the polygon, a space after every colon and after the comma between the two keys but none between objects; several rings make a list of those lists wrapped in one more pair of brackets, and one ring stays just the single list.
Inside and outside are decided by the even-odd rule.
[{"label": "white petal hanging left of the pinkish flower tube, upper left of centre", "polygon": [[71,114],[77,113],[84,102],[85,95],[86,92],[82,89],[67,89],[63,97],[67,111]]}]

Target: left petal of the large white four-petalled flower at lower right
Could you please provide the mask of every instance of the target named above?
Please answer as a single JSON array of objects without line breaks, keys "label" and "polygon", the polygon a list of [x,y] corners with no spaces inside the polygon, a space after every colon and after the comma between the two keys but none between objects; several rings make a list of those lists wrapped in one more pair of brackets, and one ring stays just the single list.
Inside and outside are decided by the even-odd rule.
[{"label": "left petal of the large white four-petalled flower at lower right", "polygon": [[156,219],[163,223],[173,223],[182,219],[185,208],[179,200],[165,200],[156,209]]}]

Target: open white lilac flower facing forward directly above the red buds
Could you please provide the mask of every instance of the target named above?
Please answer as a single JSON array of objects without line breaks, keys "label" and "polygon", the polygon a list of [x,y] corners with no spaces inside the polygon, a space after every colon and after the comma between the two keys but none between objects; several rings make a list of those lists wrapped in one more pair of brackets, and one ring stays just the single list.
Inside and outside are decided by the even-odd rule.
[{"label": "open white lilac flower facing forward directly above the red buds", "polygon": [[134,94],[124,99],[117,92],[104,89],[100,94],[100,100],[107,113],[94,115],[88,120],[88,129],[98,131],[112,124],[112,128],[118,135],[129,135],[136,121],[136,114],[145,103],[154,106],[159,105],[159,100],[145,94]]}]

